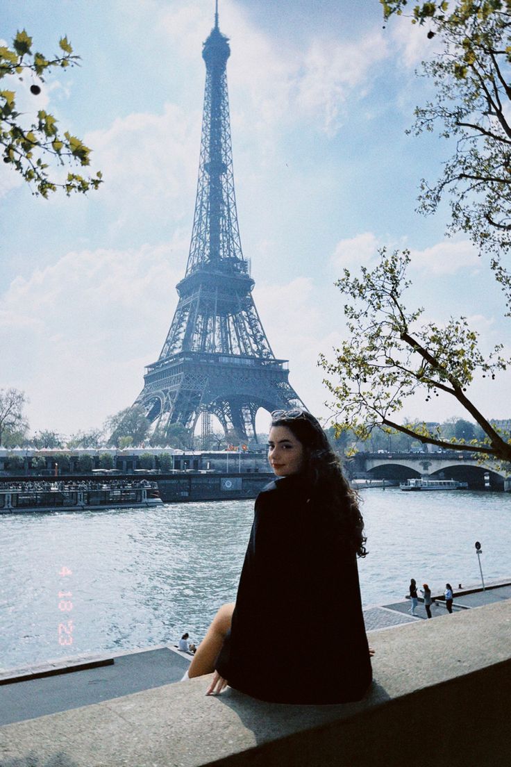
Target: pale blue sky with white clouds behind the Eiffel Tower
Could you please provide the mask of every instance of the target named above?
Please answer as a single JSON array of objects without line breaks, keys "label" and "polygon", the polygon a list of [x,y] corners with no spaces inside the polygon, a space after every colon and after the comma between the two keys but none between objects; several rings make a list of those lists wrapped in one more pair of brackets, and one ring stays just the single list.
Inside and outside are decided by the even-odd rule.
[{"label": "pale blue sky with white clouds behind the Eiffel Tower", "polygon": [[[504,301],[470,242],[447,239],[447,207],[419,215],[420,181],[441,175],[449,144],[407,135],[431,97],[417,77],[434,52],[424,28],[385,26],[378,0],[220,0],[228,35],[234,183],[254,301],[290,383],[326,417],[319,352],[346,337],[342,268],[377,249],[412,252],[410,307],[470,318],[483,349],[509,356]],[[17,83],[18,107],[44,108],[92,147],[104,183],[41,199],[0,163],[0,388],[28,397],[31,432],[103,425],[133,403],[159,357],[188,258],[213,0],[4,0],[0,38],[34,48],[67,35],[80,67]],[[509,417],[509,377],[470,396]],[[403,417],[444,420],[449,398],[409,401]],[[267,418],[258,418],[264,429]]]}]

